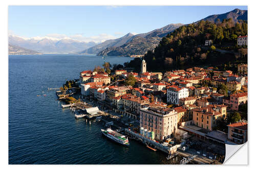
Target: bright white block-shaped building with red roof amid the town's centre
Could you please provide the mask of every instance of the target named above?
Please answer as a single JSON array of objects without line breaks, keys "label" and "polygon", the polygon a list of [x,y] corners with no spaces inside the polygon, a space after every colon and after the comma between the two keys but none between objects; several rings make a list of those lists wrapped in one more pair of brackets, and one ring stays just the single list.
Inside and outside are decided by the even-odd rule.
[{"label": "bright white block-shaped building with red roof amid the town's centre", "polygon": [[188,89],[180,86],[169,86],[167,89],[167,103],[179,104],[179,99],[189,96]]}]

